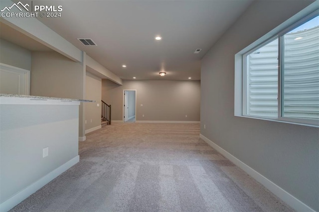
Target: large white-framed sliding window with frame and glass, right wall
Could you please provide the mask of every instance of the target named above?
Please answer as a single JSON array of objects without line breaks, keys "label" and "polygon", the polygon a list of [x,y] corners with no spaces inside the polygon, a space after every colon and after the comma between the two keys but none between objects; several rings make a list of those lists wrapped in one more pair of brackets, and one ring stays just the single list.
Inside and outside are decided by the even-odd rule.
[{"label": "large white-framed sliding window with frame and glass, right wall", "polygon": [[235,89],[242,80],[242,93],[236,101],[235,90],[235,115],[319,126],[318,10],[238,55]]}]

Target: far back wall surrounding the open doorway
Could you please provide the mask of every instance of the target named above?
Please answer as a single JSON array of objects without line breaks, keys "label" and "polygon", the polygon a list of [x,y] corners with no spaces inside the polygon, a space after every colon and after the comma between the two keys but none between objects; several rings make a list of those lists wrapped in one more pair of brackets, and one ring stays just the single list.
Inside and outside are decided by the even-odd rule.
[{"label": "far back wall surrounding the open doorway", "polygon": [[199,121],[200,81],[123,80],[119,86],[102,80],[102,100],[112,105],[112,120],[123,120],[123,89],[137,90],[137,121]]}]

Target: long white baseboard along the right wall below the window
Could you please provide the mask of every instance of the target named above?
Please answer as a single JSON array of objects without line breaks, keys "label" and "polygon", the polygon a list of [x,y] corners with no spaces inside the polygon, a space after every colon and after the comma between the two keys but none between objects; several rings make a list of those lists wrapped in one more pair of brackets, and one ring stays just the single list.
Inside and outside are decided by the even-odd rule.
[{"label": "long white baseboard along the right wall below the window", "polygon": [[316,212],[313,209],[311,209],[309,206],[268,180],[263,175],[259,174],[257,171],[237,159],[235,156],[231,155],[229,152],[203,136],[202,134],[199,134],[199,137],[203,139],[209,146],[217,150],[220,154],[225,156],[228,160],[233,162],[236,166],[244,170],[247,174],[249,174],[251,177],[253,177],[256,181],[261,183],[264,187],[266,187],[269,191],[271,191],[274,195],[276,195],[278,198],[280,198],[282,201],[287,203],[290,207],[295,209],[297,212]]}]

